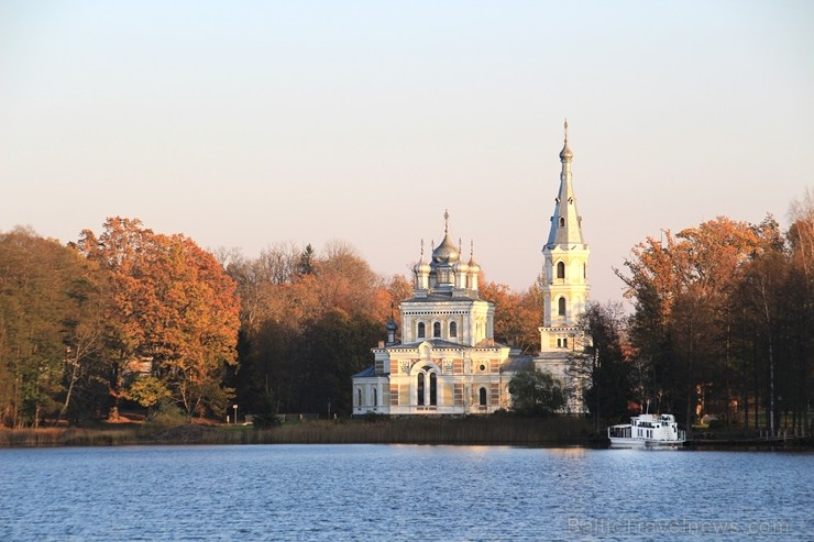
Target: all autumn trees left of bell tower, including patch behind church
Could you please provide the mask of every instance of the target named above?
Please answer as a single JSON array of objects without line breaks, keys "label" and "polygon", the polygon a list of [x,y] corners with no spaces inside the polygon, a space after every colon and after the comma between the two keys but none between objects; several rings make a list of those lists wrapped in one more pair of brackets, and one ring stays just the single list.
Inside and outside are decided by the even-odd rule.
[{"label": "all autumn trees left of bell tower, including patch behind church", "polygon": [[[116,420],[122,407],[188,416],[346,416],[350,377],[372,364],[402,275],[352,246],[277,244],[210,253],[138,219],[109,219],[67,245],[0,233],[0,417],[7,427]],[[503,340],[534,347],[539,295],[482,283]]]}]

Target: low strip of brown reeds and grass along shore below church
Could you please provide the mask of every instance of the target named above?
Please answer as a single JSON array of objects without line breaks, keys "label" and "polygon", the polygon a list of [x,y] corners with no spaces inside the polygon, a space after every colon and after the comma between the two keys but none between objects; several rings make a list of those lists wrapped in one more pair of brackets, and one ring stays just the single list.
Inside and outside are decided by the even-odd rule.
[{"label": "low strip of brown reeds and grass along shore below church", "polygon": [[290,423],[271,429],[193,423],[162,430],[138,425],[0,430],[0,447],[317,443],[566,445],[590,442],[590,420],[573,418],[342,420]]}]

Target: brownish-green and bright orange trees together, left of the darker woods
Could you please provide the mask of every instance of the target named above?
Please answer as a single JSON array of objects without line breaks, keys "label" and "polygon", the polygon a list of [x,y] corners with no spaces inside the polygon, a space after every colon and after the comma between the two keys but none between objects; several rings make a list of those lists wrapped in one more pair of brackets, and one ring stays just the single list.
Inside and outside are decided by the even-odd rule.
[{"label": "brownish-green and bright orange trees together, left of the darker woods", "polygon": [[117,419],[122,401],[223,412],[234,281],[183,235],[109,219],[63,246],[0,234],[0,416],[9,427]]}]

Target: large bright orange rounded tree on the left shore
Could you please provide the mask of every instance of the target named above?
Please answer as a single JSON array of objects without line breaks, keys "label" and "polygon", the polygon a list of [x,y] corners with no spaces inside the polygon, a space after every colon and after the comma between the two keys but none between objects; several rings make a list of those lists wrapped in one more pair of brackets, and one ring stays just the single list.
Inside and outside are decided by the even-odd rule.
[{"label": "large bright orange rounded tree on the left shore", "polygon": [[188,414],[222,412],[224,366],[237,363],[240,325],[234,281],[215,256],[183,235],[156,234],[139,220],[113,218],[78,246],[110,273],[111,417],[124,374],[148,363]]}]

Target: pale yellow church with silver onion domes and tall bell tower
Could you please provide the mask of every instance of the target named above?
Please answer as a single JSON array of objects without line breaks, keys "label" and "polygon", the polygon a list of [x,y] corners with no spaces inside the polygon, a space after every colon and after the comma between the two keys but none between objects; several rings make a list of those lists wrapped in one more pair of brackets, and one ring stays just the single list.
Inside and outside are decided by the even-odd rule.
[{"label": "pale yellow church with silver onion domes and tall bell tower", "polygon": [[560,152],[560,189],[543,255],[543,322],[540,351],[522,355],[495,342],[495,305],[481,298],[481,267],[470,245],[469,261],[450,235],[444,212],[442,241],[429,262],[421,256],[413,268],[413,297],[398,306],[402,333],[387,322],[386,341],[373,349],[374,364],[353,375],[353,413],[388,416],[487,414],[512,407],[509,380],[534,364],[559,378],[571,391],[566,413],[581,413],[580,383],[568,370],[584,355],[578,318],[585,309],[588,246],[571,179],[573,153],[568,142]]}]

